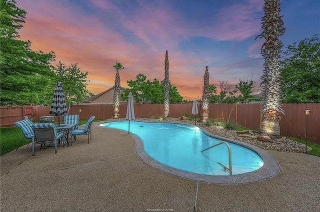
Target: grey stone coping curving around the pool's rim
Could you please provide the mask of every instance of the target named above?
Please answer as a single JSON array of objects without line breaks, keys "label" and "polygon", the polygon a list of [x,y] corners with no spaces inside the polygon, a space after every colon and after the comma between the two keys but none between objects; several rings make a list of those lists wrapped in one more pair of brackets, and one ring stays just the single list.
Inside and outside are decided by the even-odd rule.
[{"label": "grey stone coping curving around the pool's rim", "polygon": [[[127,120],[108,120],[108,121],[104,121],[103,123],[113,122],[113,121],[127,121]],[[134,121],[159,123],[158,121],[147,121],[147,120],[143,120],[143,121],[134,120]],[[188,123],[180,123],[180,122],[171,122],[171,121],[161,121],[161,122],[162,123],[176,123],[176,124],[184,124],[184,125],[189,125],[189,126],[196,126],[196,125],[192,125],[192,124],[188,124]],[[97,126],[103,127],[100,125],[103,123],[99,123],[99,124],[97,124]],[[206,182],[206,183],[214,183],[214,184],[244,184],[244,183],[252,183],[252,182],[262,181],[262,180],[268,179],[270,177],[273,177],[277,173],[279,173],[280,164],[267,151],[265,151],[257,146],[251,145],[249,143],[245,143],[245,142],[238,141],[235,139],[226,138],[226,137],[212,134],[201,126],[197,126],[197,127],[199,127],[203,131],[203,133],[205,133],[208,136],[218,138],[223,141],[236,143],[238,145],[242,145],[246,148],[249,148],[250,150],[254,151],[262,158],[263,166],[257,170],[254,170],[254,171],[250,171],[247,173],[241,173],[241,174],[234,174],[234,175],[207,175],[207,174],[199,174],[199,173],[183,171],[183,170],[162,164],[162,163],[156,161],[155,159],[153,159],[152,157],[150,157],[144,151],[143,142],[140,139],[140,137],[138,137],[137,135],[135,135],[133,133],[130,133],[130,135],[133,137],[133,140],[135,143],[135,146],[134,146],[135,153],[143,162],[145,162],[146,164],[148,164],[149,166],[151,166],[153,168],[159,169],[159,170],[164,171],[166,173],[170,173],[170,174],[182,177],[182,178]],[[112,128],[112,129],[115,129],[115,128]],[[121,130],[121,129],[115,129],[115,130],[126,131],[126,130]]]}]

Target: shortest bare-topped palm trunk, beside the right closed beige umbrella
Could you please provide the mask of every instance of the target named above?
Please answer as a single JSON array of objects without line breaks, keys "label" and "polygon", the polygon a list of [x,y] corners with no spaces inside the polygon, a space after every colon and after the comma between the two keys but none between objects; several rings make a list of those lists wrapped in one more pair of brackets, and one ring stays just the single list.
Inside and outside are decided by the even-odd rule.
[{"label": "shortest bare-topped palm trunk, beside the right closed beige umbrella", "polygon": [[202,89],[202,104],[200,111],[200,121],[206,122],[209,119],[209,97],[210,97],[210,85],[209,85],[209,70],[208,66],[205,66],[203,75],[203,89]]}]

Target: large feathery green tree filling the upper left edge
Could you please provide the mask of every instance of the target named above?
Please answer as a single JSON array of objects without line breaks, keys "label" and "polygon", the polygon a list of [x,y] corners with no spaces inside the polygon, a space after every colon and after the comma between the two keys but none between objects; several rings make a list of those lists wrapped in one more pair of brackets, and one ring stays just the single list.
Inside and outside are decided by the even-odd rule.
[{"label": "large feathery green tree filling the upper left edge", "polygon": [[54,53],[33,51],[29,40],[19,39],[26,12],[14,0],[0,0],[0,102],[46,104],[55,77],[50,62]]}]

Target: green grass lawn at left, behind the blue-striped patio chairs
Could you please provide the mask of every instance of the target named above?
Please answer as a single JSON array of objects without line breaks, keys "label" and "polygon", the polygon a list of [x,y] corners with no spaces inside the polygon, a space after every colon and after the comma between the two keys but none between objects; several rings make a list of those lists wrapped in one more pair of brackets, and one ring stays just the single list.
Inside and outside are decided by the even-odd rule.
[{"label": "green grass lawn at left, behind the blue-striped patio chairs", "polygon": [[[95,121],[102,121],[105,119],[94,119]],[[87,119],[80,120],[79,125],[86,123]],[[57,124],[57,122],[55,123]],[[23,138],[21,129],[17,126],[1,126],[0,127],[0,155],[12,151],[19,146],[21,139]],[[23,139],[20,146],[29,142],[28,139]],[[29,144],[30,145],[30,144]],[[30,147],[31,149],[31,147]]]}]

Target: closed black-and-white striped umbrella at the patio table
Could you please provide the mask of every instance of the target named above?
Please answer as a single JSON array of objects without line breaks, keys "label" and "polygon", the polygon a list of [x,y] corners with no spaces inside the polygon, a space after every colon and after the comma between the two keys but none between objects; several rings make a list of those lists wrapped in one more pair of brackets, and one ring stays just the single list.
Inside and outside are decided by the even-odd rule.
[{"label": "closed black-and-white striped umbrella at the patio table", "polygon": [[50,108],[50,114],[58,116],[58,124],[60,124],[60,116],[67,113],[65,106],[64,94],[62,91],[61,82],[56,82],[55,91],[52,98],[52,104]]}]

